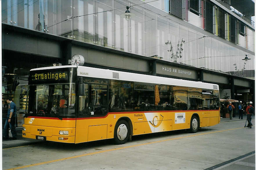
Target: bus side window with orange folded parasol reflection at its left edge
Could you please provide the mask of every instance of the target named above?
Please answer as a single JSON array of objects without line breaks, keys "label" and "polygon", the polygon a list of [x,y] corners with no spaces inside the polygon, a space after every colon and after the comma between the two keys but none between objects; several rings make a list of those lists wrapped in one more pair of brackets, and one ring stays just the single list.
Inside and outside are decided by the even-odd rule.
[{"label": "bus side window with orange folded parasol reflection at its left edge", "polygon": [[[172,86],[156,85],[155,89],[155,93],[159,94],[159,102],[156,104],[156,110],[172,110]],[[155,101],[157,100],[155,99]]]}]

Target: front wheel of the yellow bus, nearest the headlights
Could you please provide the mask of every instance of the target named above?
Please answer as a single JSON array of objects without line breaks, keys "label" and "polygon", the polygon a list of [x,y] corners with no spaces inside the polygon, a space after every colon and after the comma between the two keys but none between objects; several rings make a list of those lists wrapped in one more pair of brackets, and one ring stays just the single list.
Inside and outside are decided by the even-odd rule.
[{"label": "front wheel of the yellow bus, nearest the headlights", "polygon": [[129,124],[125,120],[120,120],[116,123],[114,132],[114,141],[117,145],[124,144],[128,141],[130,135]]}]

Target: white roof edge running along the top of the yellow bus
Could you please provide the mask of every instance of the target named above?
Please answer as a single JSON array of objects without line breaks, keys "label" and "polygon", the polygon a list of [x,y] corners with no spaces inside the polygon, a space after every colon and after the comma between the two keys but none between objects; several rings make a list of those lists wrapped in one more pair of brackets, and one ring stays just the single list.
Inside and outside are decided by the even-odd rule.
[{"label": "white roof edge running along the top of the yellow bus", "polygon": [[50,66],[31,69],[30,71],[43,70],[43,69],[59,69],[59,68],[77,68],[77,75],[82,77],[93,77],[93,78],[103,78],[111,80],[123,80],[123,81],[133,81],[133,82],[145,82],[152,84],[166,84],[174,86],[188,86],[193,88],[205,88],[205,89],[214,89],[219,90],[219,85],[203,82],[195,82],[190,80],[174,79],[153,75],[145,75],[138,73],[128,73],[123,71],[114,71],[109,69],[98,69],[93,67],[86,66]]}]

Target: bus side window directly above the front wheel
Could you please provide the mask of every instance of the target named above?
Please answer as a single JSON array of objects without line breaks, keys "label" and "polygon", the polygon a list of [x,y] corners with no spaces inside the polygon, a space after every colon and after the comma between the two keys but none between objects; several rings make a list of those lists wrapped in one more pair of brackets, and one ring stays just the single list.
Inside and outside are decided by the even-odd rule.
[{"label": "bus side window directly above the front wheel", "polygon": [[133,82],[111,80],[109,86],[109,111],[133,110]]}]

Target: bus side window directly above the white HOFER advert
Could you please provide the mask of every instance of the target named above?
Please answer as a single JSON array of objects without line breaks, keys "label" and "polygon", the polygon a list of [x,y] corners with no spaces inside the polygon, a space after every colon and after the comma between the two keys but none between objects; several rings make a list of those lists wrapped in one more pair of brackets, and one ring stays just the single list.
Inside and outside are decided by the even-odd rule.
[{"label": "bus side window directly above the white HOFER advert", "polygon": [[173,86],[173,110],[188,110],[188,87]]}]

